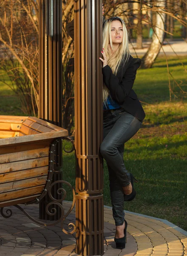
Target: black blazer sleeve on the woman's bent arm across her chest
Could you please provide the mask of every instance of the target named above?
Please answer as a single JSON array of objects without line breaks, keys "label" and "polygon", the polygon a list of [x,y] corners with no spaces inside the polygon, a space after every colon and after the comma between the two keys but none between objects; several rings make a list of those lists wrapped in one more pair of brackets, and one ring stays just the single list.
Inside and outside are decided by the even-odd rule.
[{"label": "black blazer sleeve on the woman's bent arm across her chest", "polygon": [[111,96],[119,104],[122,104],[130,93],[136,78],[136,71],[141,65],[140,58],[133,58],[125,71],[122,80],[112,73],[107,65],[102,68],[103,81],[110,90]]}]

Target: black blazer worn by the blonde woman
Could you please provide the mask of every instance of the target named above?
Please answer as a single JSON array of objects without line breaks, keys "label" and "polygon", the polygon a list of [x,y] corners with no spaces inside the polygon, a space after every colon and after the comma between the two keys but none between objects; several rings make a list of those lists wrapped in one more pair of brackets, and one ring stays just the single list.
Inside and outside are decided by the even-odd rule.
[{"label": "black blazer worn by the blonde woman", "polygon": [[[74,40],[74,20],[66,26],[66,30]],[[136,93],[132,89],[136,78],[136,71],[140,65],[141,59],[133,58],[130,55],[125,66],[122,67],[121,65],[119,67],[116,76],[108,65],[102,68],[102,74],[103,81],[108,87],[112,99],[137,119],[143,120],[145,118],[145,112]]]}]

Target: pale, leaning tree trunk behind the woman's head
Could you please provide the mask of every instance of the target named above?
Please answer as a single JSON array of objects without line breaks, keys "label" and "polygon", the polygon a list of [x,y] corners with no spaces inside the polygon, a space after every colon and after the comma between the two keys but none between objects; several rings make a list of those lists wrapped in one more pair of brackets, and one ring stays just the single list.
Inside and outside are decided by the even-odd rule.
[{"label": "pale, leaning tree trunk behind the woman's head", "polygon": [[142,58],[143,68],[150,68],[153,65],[164,41],[164,23],[166,15],[162,12],[159,13],[159,10],[164,8],[165,5],[166,0],[157,2],[156,26],[153,26],[153,41],[150,44],[150,47],[145,53],[144,57]]}]

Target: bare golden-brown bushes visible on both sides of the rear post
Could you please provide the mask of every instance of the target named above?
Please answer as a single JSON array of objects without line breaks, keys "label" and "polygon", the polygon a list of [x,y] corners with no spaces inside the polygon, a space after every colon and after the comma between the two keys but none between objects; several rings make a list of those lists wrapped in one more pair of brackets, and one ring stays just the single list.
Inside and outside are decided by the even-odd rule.
[{"label": "bare golden-brown bushes visible on both sides of the rear post", "polygon": [[[65,31],[73,19],[74,0],[63,0],[62,67],[63,125],[71,130],[74,116],[74,44]],[[35,0],[4,0],[0,2],[0,81],[19,96],[22,110],[37,116],[39,106],[39,2]],[[8,75],[11,83],[7,83]]]}]

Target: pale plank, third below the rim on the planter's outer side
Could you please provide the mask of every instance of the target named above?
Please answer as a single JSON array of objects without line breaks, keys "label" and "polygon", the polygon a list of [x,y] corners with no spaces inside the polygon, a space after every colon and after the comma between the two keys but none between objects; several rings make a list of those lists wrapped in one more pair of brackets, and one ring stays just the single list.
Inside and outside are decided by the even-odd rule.
[{"label": "pale plank, third below the rim on the planter's outer side", "polygon": [[34,167],[47,166],[49,163],[48,161],[48,157],[40,157],[36,159],[23,160],[12,163],[2,163],[0,164],[0,173],[15,172]]}]

